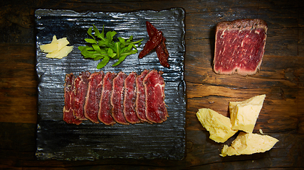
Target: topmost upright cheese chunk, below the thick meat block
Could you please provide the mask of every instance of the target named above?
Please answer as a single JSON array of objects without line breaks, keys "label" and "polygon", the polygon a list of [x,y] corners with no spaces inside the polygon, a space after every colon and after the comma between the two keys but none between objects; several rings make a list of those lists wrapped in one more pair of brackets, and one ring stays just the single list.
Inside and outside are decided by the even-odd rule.
[{"label": "topmost upright cheese chunk, below the thick meat block", "polygon": [[253,132],[266,95],[254,96],[246,101],[229,102],[232,129]]}]

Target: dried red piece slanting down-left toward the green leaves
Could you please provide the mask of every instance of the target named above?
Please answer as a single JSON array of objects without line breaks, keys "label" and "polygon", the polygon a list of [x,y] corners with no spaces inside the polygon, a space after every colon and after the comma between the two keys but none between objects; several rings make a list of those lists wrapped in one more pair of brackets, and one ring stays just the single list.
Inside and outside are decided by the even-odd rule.
[{"label": "dried red piece slanting down-left toward the green leaves", "polygon": [[144,57],[147,55],[150,51],[154,50],[157,45],[162,42],[162,31],[158,31],[152,38],[150,38],[145,46],[144,49],[140,52],[140,55],[138,55],[139,58]]}]

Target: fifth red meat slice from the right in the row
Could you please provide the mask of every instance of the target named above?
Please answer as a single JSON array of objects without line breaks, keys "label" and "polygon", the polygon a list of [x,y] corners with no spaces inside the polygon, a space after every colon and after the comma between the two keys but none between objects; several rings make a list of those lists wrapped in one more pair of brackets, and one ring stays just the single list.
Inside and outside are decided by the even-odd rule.
[{"label": "fifth red meat slice from the right in the row", "polygon": [[116,77],[115,73],[107,72],[103,78],[103,91],[99,103],[98,119],[105,125],[114,125],[116,122],[111,115],[110,97],[112,95],[112,81]]}]

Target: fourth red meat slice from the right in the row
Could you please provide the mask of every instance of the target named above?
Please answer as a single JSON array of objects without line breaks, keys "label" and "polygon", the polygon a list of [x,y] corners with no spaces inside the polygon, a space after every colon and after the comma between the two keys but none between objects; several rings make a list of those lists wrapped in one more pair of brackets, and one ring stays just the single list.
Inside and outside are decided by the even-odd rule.
[{"label": "fourth red meat slice from the right in the row", "polygon": [[117,123],[122,125],[129,125],[123,113],[123,100],[124,100],[124,84],[127,75],[124,72],[119,72],[117,77],[113,79],[111,106],[112,106],[112,118]]}]

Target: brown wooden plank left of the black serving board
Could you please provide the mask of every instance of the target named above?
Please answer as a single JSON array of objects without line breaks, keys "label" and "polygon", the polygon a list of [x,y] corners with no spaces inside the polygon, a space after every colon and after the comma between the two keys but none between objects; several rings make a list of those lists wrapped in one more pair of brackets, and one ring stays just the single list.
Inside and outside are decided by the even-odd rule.
[{"label": "brown wooden plank left of the black serving board", "polygon": [[0,44],[0,122],[36,123],[37,75],[33,45]]}]

